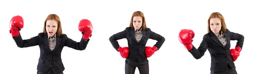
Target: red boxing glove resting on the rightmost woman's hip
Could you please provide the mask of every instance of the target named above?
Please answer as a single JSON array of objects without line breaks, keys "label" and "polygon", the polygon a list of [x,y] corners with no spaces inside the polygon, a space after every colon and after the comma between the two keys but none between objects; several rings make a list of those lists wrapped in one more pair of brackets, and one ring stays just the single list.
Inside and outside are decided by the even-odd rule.
[{"label": "red boxing glove resting on the rightmost woman's hip", "polygon": [[240,55],[241,50],[242,49],[240,47],[238,47],[238,46],[235,49],[230,49],[230,55],[231,55],[233,61],[237,60],[237,58]]}]

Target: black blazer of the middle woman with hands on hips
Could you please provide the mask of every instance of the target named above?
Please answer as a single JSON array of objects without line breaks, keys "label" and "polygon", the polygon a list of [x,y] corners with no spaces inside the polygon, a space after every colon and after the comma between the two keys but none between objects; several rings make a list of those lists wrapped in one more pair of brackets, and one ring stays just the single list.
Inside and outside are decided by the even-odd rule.
[{"label": "black blazer of the middle woman with hands on hips", "polygon": [[[116,51],[119,48],[119,44],[117,40],[126,38],[128,41],[128,48],[129,48],[129,55],[127,57],[128,60],[135,61],[138,57],[139,61],[146,61],[147,57],[145,55],[145,45],[148,41],[148,39],[157,40],[157,43],[154,45],[157,47],[157,49],[160,49],[160,47],[163,45],[165,38],[157,33],[154,33],[150,30],[150,28],[145,28],[145,30],[142,30],[142,38],[140,42],[137,42],[135,39],[135,30],[131,27],[126,27],[124,31],[114,34],[109,38],[109,41],[111,42],[112,46],[116,49]],[[151,46],[153,47],[153,46]]]}]

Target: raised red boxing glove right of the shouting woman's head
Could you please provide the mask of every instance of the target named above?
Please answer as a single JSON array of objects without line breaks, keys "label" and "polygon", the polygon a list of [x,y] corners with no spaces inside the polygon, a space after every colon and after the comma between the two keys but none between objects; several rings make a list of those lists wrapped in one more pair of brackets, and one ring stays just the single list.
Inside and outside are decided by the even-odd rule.
[{"label": "raised red boxing glove right of the shouting woman's head", "polygon": [[79,22],[78,29],[83,34],[83,38],[88,40],[92,36],[93,25],[88,19],[81,19]]}]

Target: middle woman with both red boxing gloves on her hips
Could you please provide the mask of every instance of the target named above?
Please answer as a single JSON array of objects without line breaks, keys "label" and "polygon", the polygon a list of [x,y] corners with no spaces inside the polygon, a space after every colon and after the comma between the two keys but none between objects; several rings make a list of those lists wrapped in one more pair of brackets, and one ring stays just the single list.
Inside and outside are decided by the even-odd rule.
[{"label": "middle woman with both red boxing gloves on her hips", "polygon": [[[128,47],[120,47],[117,40],[126,38]],[[153,47],[145,47],[148,39],[157,40]],[[165,38],[146,27],[145,17],[141,11],[131,16],[130,26],[109,38],[113,47],[125,60],[125,74],[134,74],[138,67],[140,74],[149,74],[148,59],[163,45]]]}]

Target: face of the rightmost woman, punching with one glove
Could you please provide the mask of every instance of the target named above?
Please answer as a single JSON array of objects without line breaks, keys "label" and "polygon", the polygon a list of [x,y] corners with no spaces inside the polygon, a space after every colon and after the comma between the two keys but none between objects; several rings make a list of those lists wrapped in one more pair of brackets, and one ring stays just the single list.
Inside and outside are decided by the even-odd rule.
[{"label": "face of the rightmost woman, punching with one glove", "polygon": [[210,19],[209,24],[210,24],[210,28],[211,28],[213,33],[219,33],[220,32],[221,26],[222,26],[220,19],[218,19],[217,17],[212,18],[212,19]]}]

